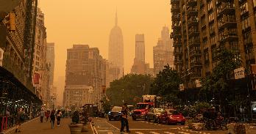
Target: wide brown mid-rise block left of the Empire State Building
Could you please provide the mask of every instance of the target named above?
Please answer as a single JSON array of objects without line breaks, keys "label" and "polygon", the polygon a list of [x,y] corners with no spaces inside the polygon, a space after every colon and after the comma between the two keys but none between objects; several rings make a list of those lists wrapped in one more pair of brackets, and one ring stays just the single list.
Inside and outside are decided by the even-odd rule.
[{"label": "wide brown mid-rise block left of the Empire State Building", "polygon": [[[67,54],[63,106],[71,107],[69,102],[73,100],[66,98],[70,97],[70,90],[77,90],[77,86],[82,87],[79,91],[90,92],[90,97],[84,96],[85,100],[88,100],[85,103],[99,105],[104,94],[102,86],[108,85],[107,60],[100,56],[98,48],[90,48],[89,45],[73,45],[73,48],[68,49]],[[80,106],[85,103],[81,103]]]}]

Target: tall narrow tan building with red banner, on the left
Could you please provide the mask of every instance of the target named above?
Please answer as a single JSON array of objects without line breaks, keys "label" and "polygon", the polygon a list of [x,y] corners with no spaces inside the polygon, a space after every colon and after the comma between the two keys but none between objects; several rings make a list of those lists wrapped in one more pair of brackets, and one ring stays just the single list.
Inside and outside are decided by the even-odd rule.
[{"label": "tall narrow tan building with red banner, on the left", "polygon": [[34,62],[32,70],[33,86],[35,94],[43,100],[43,103],[49,104],[49,70],[46,63],[46,27],[44,26],[43,12],[38,8],[37,21],[35,26],[35,49]]}]

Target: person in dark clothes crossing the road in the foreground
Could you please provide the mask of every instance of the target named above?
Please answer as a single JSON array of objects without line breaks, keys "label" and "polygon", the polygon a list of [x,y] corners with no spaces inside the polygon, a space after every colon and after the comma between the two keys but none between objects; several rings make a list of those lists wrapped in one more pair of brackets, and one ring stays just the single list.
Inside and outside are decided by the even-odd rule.
[{"label": "person in dark clothes crossing the road in the foreground", "polygon": [[127,133],[130,133],[129,131],[129,122],[128,122],[128,108],[127,108],[127,103],[124,103],[122,106],[122,111],[121,111],[121,129],[120,132],[124,132],[124,127],[127,127]]}]

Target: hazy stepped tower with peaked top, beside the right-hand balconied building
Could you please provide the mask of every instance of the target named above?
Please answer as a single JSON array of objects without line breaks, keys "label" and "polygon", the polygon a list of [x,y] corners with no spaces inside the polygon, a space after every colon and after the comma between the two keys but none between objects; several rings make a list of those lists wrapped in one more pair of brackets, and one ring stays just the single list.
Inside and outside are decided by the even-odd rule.
[{"label": "hazy stepped tower with peaked top, beside the right-hand balconied building", "polygon": [[164,26],[161,31],[161,38],[158,39],[157,45],[153,48],[154,75],[163,70],[167,64],[174,67],[174,49],[171,44],[169,29]]}]

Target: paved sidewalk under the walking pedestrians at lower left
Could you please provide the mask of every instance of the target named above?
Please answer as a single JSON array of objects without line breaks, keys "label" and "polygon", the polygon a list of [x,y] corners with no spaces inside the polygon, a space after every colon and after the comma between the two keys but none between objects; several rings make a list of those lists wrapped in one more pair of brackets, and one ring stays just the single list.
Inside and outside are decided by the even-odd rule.
[{"label": "paved sidewalk under the walking pedestrians at lower left", "polygon": [[[51,123],[44,122],[40,123],[40,119],[36,119],[32,122],[28,122],[26,124],[21,125],[21,133],[18,134],[70,134],[70,130],[68,124],[71,123],[70,118],[65,118],[60,120],[60,127],[57,127],[57,121],[55,121],[54,129],[51,129]],[[90,126],[90,124],[88,124]],[[89,127],[90,128],[90,127]],[[11,128],[12,129],[12,128]],[[13,134],[15,133],[15,128],[11,131]],[[89,132],[84,132],[82,134],[92,134],[91,130]]]}]

